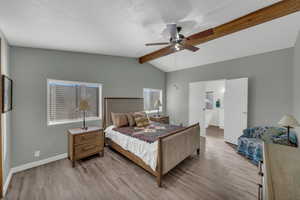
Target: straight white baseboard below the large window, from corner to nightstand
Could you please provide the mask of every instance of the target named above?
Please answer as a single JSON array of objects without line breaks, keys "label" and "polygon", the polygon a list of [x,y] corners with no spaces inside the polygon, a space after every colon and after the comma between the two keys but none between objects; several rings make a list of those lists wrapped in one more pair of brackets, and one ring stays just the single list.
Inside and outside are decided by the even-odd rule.
[{"label": "straight white baseboard below the large window, from corner to nightstand", "polygon": [[57,161],[57,160],[65,159],[67,157],[68,157],[67,153],[59,154],[57,156],[49,157],[49,158],[46,158],[46,159],[43,159],[43,160],[38,160],[38,161],[23,164],[23,165],[20,165],[20,166],[17,166],[17,167],[13,167],[13,168],[11,168],[11,171],[14,174],[14,173],[17,173],[17,172],[24,171],[26,169],[31,169],[31,168],[38,167],[38,166],[41,166],[41,165],[45,165],[47,163],[51,163],[51,162],[54,162],[54,161]]}]

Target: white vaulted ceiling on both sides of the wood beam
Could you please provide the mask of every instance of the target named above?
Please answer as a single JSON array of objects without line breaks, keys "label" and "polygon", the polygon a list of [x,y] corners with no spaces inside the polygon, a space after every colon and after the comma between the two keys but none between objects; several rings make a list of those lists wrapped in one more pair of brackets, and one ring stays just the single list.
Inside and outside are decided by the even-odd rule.
[{"label": "white vaulted ceiling on both sides of the wood beam", "polygon": [[[0,29],[12,45],[140,57],[168,40],[166,23],[186,36],[279,0],[0,0]],[[291,47],[300,14],[290,15],[151,63],[164,70],[200,66]],[[284,30],[284,31],[281,31]]]}]

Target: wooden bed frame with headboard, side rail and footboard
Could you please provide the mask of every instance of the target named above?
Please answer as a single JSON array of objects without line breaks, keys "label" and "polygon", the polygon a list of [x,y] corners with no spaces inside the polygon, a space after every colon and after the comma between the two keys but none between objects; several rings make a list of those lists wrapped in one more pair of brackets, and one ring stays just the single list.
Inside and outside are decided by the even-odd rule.
[{"label": "wooden bed frame with headboard, side rail and footboard", "polygon": [[[110,107],[110,104],[111,104],[110,101],[113,101],[115,104],[118,104],[118,106],[116,106],[116,108],[114,108],[113,106]],[[126,108],[122,108],[122,106],[119,106],[119,105],[122,105],[123,101],[126,102],[125,103]],[[131,102],[131,103],[129,103],[131,106],[127,105],[128,102]],[[114,104],[114,103],[112,103],[112,104]],[[137,104],[136,106],[134,105],[135,103]],[[137,112],[137,111],[141,111],[141,110],[143,110],[143,98],[106,97],[106,98],[104,98],[103,128],[105,129],[106,127],[111,125],[111,119],[108,119],[111,115],[111,112],[122,113],[122,112]],[[199,124],[195,124],[195,125],[192,125],[192,126],[189,126],[189,127],[171,132],[167,135],[164,135],[164,136],[161,136],[161,137],[158,138],[158,151],[157,151],[158,155],[157,155],[156,170],[153,170],[141,158],[139,158],[135,154],[123,149],[120,145],[118,145],[117,143],[115,143],[111,139],[105,138],[105,144],[108,145],[110,148],[114,149],[115,151],[119,152],[120,154],[124,155],[129,160],[131,160],[132,162],[134,162],[138,166],[142,167],[143,169],[145,169],[146,171],[148,171],[152,175],[154,175],[156,177],[156,180],[157,180],[157,185],[159,187],[161,187],[161,185],[162,185],[162,176],[167,173],[167,172],[163,172],[164,159],[167,159],[167,158],[163,157],[163,151],[164,151],[163,142],[164,142],[164,140],[170,139],[171,137],[177,137],[177,135],[180,135],[180,134],[184,134],[185,137],[188,137],[189,133],[191,132],[190,130],[191,131],[192,130],[193,131],[197,130],[197,132],[199,133],[199,141],[194,141],[195,143],[197,143],[197,142],[199,143],[198,148],[195,149],[195,151],[197,152],[197,155],[199,155],[199,153],[200,153],[200,127],[199,127]],[[188,156],[189,155],[187,155],[185,158],[187,158]],[[183,161],[185,158],[181,159],[179,162]],[[179,162],[177,164],[179,164]]]}]

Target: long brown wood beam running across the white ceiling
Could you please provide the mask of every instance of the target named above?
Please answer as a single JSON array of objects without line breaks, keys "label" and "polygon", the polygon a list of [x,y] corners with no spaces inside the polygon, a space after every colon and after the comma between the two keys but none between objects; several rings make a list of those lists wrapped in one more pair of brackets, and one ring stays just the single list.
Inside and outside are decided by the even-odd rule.
[{"label": "long brown wood beam running across the white ceiling", "polygon": [[[278,3],[252,12],[231,22],[217,26],[212,29],[213,34],[209,36],[202,37],[200,39],[193,39],[193,37],[200,33],[191,35],[188,37],[188,39],[190,40],[187,40],[187,43],[196,46],[298,11],[300,11],[300,0],[282,0]],[[154,60],[156,58],[170,54],[167,51],[167,48],[168,47],[165,47],[140,57],[139,63],[142,64],[150,60]]]}]

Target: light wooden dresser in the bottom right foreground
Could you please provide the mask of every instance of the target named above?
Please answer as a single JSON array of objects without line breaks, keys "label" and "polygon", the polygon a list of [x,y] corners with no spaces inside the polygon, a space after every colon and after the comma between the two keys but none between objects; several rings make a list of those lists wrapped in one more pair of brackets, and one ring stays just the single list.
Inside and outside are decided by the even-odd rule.
[{"label": "light wooden dresser in the bottom right foreground", "polygon": [[260,200],[300,200],[300,149],[264,144],[264,161],[259,166],[262,183]]}]

